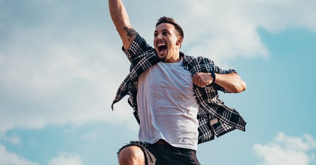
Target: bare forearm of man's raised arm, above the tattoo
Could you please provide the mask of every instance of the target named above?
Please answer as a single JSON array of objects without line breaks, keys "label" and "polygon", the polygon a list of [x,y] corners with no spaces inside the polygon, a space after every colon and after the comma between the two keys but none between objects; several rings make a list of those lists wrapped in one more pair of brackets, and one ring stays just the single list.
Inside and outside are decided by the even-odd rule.
[{"label": "bare forearm of man's raised arm, above the tattoo", "polygon": [[130,25],[130,20],[121,0],[109,0],[109,9],[112,21],[118,30]]}]

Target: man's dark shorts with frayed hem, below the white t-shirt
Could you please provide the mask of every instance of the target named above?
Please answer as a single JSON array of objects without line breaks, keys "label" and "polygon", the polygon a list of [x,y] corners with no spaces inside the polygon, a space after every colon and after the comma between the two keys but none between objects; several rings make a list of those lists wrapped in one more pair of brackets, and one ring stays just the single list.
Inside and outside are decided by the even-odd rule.
[{"label": "man's dark shorts with frayed hem, below the white t-shirt", "polygon": [[196,151],[186,148],[173,147],[168,144],[148,144],[139,141],[131,141],[123,146],[119,152],[127,146],[138,146],[144,152],[146,165],[201,165],[196,156]]}]

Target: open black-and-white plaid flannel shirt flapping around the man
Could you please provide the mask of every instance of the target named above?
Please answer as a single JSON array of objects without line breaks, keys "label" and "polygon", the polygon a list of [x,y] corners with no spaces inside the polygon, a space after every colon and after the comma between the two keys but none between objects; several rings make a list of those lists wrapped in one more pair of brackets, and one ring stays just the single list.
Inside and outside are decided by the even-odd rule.
[{"label": "open black-and-white plaid flannel shirt flapping around the man", "polygon": [[[133,107],[134,116],[138,124],[140,124],[137,109],[138,76],[151,66],[160,62],[160,60],[157,57],[155,49],[149,46],[138,33],[132,42],[130,49],[124,50],[124,47],[122,47],[122,50],[131,62],[130,73],[119,86],[111,107],[113,110],[114,103],[120,101],[125,95],[129,95],[128,103]],[[182,52],[180,52],[180,57],[183,57],[185,69],[189,70],[192,73],[192,76],[199,72],[237,74],[235,70],[220,69],[208,58],[186,56]],[[219,95],[217,90],[223,91],[224,93],[230,93],[228,90],[216,83],[211,83],[204,88],[193,84],[193,90],[200,105],[197,113],[199,122],[198,144],[213,140],[214,135],[219,137],[234,129],[245,131],[245,120],[234,108],[226,106],[224,102],[218,98]]]}]

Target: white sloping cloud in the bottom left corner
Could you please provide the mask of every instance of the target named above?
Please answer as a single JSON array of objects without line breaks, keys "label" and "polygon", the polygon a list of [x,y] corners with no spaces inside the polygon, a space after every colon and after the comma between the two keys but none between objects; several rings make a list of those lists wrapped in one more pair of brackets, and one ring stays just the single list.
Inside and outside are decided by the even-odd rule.
[{"label": "white sloping cloud in the bottom left corner", "polygon": [[1,165],[38,165],[38,163],[33,163],[25,158],[11,153],[6,150],[5,146],[0,144],[0,164]]}]

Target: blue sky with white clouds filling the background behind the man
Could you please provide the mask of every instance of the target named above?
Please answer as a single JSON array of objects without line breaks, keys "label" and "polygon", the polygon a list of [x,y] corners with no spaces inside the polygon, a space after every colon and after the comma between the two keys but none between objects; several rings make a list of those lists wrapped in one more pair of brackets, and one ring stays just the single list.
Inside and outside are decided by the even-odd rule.
[{"label": "blue sky with white clouds filling the background behind the man", "polygon": [[[199,144],[201,164],[316,164],[316,2],[123,1],[152,45],[156,20],[184,29],[181,48],[235,69],[239,94],[220,93],[247,122]],[[0,165],[118,164],[137,140],[129,71],[107,1],[0,0]]]}]

